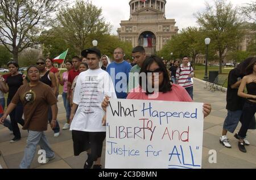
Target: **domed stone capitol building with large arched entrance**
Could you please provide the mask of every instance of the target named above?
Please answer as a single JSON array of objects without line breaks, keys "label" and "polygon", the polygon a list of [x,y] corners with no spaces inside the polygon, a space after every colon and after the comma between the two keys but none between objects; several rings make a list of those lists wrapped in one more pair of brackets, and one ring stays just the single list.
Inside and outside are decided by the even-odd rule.
[{"label": "domed stone capitol building with large arched entrance", "polygon": [[131,0],[129,5],[130,19],[122,20],[117,30],[121,41],[155,54],[179,31],[175,19],[166,19],[166,0]]}]

